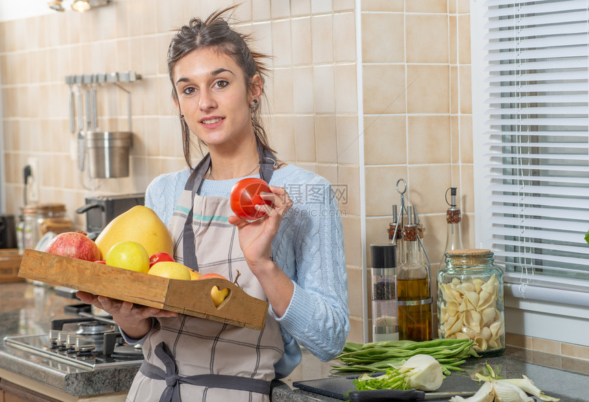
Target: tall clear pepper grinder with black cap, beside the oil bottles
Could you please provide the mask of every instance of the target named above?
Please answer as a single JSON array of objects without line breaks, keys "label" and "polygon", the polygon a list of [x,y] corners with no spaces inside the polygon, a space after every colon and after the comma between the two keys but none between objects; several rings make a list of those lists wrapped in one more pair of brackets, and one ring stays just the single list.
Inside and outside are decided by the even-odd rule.
[{"label": "tall clear pepper grinder with black cap, beside the oil bottles", "polygon": [[397,244],[371,244],[373,341],[399,340]]}]

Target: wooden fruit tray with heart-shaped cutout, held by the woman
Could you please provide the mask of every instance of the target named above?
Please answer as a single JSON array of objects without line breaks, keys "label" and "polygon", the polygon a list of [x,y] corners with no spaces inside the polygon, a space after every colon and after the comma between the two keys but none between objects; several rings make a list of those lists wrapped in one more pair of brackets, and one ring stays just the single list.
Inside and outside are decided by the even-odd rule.
[{"label": "wooden fruit tray with heart-shaped cutout, held by the woman", "polygon": [[[32,249],[25,250],[18,276],[257,330],[264,329],[268,312],[268,302],[225,279],[168,279]],[[218,307],[211,298],[213,286],[229,289]]]}]

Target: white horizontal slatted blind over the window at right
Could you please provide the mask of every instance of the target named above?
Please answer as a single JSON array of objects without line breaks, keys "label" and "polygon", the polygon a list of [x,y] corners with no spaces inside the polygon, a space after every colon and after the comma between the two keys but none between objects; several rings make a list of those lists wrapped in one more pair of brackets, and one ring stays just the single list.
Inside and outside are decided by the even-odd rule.
[{"label": "white horizontal slatted blind over the window at right", "polygon": [[589,0],[488,0],[484,12],[495,261],[507,282],[572,278],[589,292]]}]

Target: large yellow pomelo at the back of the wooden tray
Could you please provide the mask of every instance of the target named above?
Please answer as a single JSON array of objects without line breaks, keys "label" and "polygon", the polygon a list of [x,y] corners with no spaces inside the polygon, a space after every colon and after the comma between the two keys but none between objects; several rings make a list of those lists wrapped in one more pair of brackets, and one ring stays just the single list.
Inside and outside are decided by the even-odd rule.
[{"label": "large yellow pomelo at the back of the wooden tray", "polygon": [[159,251],[174,255],[168,228],[151,208],[143,205],[136,205],[127,212],[123,212],[101,231],[95,240],[100,249],[101,259],[105,259],[114,244],[124,241],[138,242],[145,248],[147,255],[153,255]]}]

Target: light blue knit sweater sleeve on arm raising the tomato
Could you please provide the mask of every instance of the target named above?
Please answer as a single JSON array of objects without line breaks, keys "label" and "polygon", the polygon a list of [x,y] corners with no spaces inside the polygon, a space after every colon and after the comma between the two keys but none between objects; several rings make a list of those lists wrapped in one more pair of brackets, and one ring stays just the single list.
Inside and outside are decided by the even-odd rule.
[{"label": "light blue knit sweater sleeve on arm raising the tomato", "polygon": [[277,321],[327,362],[342,351],[349,333],[342,221],[327,180],[312,175],[302,186],[286,187],[293,206],[273,244],[276,264],[294,283],[290,305]]}]

